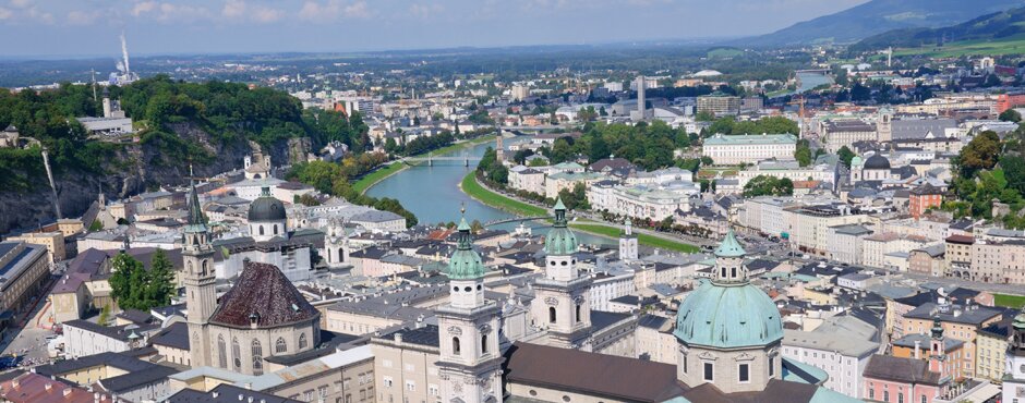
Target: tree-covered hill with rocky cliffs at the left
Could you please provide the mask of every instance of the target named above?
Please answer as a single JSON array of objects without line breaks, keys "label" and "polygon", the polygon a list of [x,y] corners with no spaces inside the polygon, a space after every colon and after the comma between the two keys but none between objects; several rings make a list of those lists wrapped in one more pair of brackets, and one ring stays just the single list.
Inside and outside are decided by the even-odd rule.
[{"label": "tree-covered hill with rocky cliffs at the left", "polygon": [[[190,164],[197,175],[240,168],[251,144],[270,152],[275,164],[304,157],[328,141],[341,141],[353,150],[370,144],[358,115],[349,120],[304,111],[298,99],[269,88],[156,76],[110,87],[109,94],[135,121],[138,143],[87,138],[74,118],[102,114],[91,86],[64,84],[16,94],[0,88],[0,129],[13,124],[23,137],[50,150],[68,217],[83,212],[99,190],[119,198],[184,183]],[[0,233],[51,221],[49,195],[39,146],[0,149]]]}]

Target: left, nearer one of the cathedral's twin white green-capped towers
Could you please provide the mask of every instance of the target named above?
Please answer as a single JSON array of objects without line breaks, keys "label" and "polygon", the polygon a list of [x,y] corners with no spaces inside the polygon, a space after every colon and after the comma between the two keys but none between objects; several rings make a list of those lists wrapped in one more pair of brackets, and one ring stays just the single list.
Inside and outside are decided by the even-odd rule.
[{"label": "left, nearer one of the cathedral's twin white green-capped towers", "polygon": [[444,402],[502,401],[502,352],[495,302],[484,301],[484,264],[473,251],[466,218],[459,222],[456,252],[445,273],[449,301],[436,309],[439,342],[437,363]]}]

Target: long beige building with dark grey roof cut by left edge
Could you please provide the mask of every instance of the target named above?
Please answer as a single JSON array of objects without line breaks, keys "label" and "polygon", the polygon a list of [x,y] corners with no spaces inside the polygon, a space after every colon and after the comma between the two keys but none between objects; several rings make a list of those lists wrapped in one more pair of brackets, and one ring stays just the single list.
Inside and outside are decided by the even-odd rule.
[{"label": "long beige building with dark grey roof cut by left edge", "polygon": [[50,274],[47,256],[43,245],[0,242],[0,331],[22,319],[43,289]]}]

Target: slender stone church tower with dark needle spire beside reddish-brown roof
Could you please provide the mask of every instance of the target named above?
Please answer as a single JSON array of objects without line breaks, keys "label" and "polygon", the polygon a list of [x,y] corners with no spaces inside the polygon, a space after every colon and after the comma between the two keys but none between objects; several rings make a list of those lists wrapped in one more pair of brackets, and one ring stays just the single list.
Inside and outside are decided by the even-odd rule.
[{"label": "slender stone church tower with dark needle spire beside reddish-brown roof", "polygon": [[191,366],[212,365],[207,322],[217,307],[214,248],[210,246],[209,229],[203,217],[195,184],[189,197],[189,224],[182,237],[182,282],[185,285],[185,308],[189,310]]}]

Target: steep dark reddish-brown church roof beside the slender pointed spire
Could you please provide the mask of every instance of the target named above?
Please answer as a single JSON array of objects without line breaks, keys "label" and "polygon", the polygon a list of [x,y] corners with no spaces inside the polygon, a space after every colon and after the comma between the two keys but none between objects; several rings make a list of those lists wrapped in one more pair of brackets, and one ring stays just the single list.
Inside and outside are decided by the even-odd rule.
[{"label": "steep dark reddish-brown church roof beside the slender pointed spire", "polygon": [[277,266],[246,261],[239,281],[221,297],[210,321],[248,328],[253,314],[258,316],[256,323],[261,328],[317,320],[321,316]]}]

